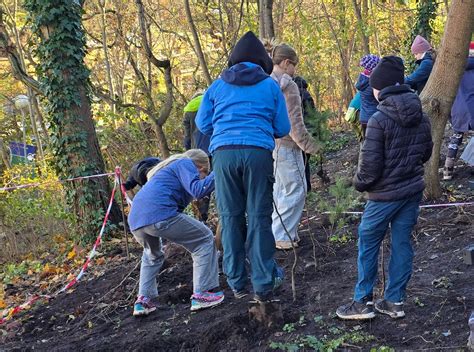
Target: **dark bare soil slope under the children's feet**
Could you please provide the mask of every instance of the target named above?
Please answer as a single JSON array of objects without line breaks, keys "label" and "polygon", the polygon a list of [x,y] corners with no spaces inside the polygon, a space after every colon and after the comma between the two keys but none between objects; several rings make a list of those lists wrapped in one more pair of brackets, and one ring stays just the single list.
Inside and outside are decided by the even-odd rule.
[{"label": "dark bare soil slope under the children's feet", "polygon": [[[336,135],[335,140],[346,137]],[[342,144],[327,156],[326,169],[332,181],[336,176],[347,177],[356,164],[357,143],[346,138]],[[469,177],[468,168],[458,168],[456,178],[443,184],[444,199],[439,202],[472,200]],[[296,250],[296,300],[291,289],[294,254],[277,253],[287,274],[278,297],[284,317],[281,325],[264,328],[251,323],[248,301],[234,299],[223,276],[223,304],[191,313],[192,261],[174,245],[167,246],[159,277],[159,308],[147,317],[135,318],[132,306],[140,248],[133,245],[132,259],[127,261],[117,248],[120,245],[109,243],[102,253],[105,270],[98,275],[87,273],[72,292],[36,304],[0,326],[0,351],[464,350],[467,320],[474,309],[474,267],[463,262],[462,250],[474,243],[474,209],[421,211],[413,237],[414,271],[404,319],[378,315],[368,322],[344,322],[335,317],[335,310],[353,294],[359,218],[346,219],[349,235],[331,236],[327,218],[317,212],[318,199],[331,198],[328,187],[315,176],[313,188]],[[386,244],[386,265],[389,255]],[[378,295],[381,287],[380,281]],[[18,290],[28,292],[29,288],[9,285],[6,294]]]}]

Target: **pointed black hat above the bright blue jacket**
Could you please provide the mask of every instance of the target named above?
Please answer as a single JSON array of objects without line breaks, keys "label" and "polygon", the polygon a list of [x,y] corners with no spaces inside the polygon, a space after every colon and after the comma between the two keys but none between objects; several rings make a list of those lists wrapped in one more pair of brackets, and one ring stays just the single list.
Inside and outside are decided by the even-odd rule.
[{"label": "pointed black hat above the bright blue jacket", "polygon": [[244,61],[259,65],[267,74],[271,74],[273,71],[272,59],[265,50],[263,43],[251,31],[245,33],[235,44],[228,65],[231,67]]}]

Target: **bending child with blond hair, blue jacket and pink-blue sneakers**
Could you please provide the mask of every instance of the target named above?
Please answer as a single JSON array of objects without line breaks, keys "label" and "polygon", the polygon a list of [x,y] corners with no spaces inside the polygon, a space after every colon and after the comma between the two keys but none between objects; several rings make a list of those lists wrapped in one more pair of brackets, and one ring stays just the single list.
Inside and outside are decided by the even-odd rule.
[{"label": "bending child with blond hair, blue jacket and pink-blue sneakers", "polygon": [[217,250],[211,230],[183,213],[192,199],[214,190],[214,174],[209,175],[209,158],[200,149],[175,154],[153,167],[148,182],[133,199],[128,223],[143,247],[138,298],[133,315],[148,315],[156,309],[156,279],[163,264],[161,239],[177,243],[193,258],[191,310],[219,304],[224,294],[219,287]]}]

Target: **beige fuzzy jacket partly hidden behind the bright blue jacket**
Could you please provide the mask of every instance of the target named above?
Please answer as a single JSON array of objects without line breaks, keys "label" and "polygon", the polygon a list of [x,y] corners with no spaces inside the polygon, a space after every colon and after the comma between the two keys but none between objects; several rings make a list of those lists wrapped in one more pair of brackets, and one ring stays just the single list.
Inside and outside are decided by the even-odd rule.
[{"label": "beige fuzzy jacket partly hidden behind the bright blue jacket", "polygon": [[308,154],[316,154],[320,150],[320,146],[308,132],[304,124],[298,86],[286,73],[279,73],[274,70],[271,76],[278,83],[285,96],[286,107],[291,123],[290,134],[277,140],[277,147],[283,145],[289,148],[299,148]]}]

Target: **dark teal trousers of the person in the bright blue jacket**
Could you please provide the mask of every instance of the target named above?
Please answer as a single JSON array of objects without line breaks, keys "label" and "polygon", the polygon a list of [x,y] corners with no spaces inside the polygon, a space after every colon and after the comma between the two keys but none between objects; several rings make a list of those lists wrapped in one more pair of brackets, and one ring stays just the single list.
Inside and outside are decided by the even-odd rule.
[{"label": "dark teal trousers of the person in the bright blue jacket", "polygon": [[227,282],[234,291],[245,288],[248,257],[254,292],[267,293],[276,273],[272,154],[259,148],[218,149],[213,168]]}]

